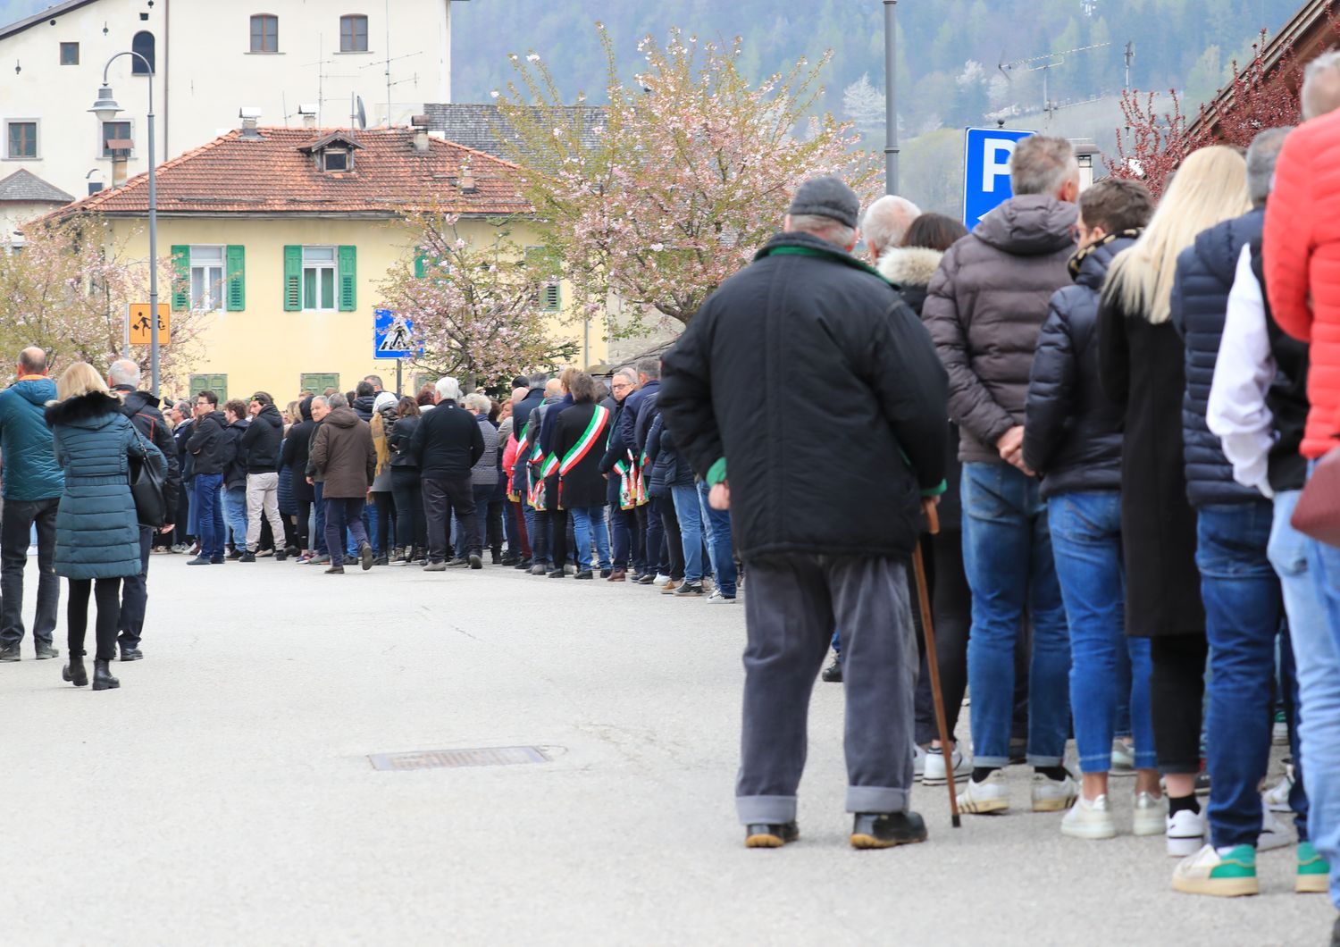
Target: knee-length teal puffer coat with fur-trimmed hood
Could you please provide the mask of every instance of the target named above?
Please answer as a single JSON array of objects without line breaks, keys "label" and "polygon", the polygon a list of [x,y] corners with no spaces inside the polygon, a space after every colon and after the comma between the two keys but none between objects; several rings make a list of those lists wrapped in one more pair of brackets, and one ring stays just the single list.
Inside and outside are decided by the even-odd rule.
[{"label": "knee-length teal puffer coat with fur-trimmed hood", "polygon": [[139,573],[139,522],[130,496],[130,458],[147,458],[162,476],[162,453],[142,439],[100,391],[47,407],[66,490],[56,509],[56,575],[115,579]]}]

